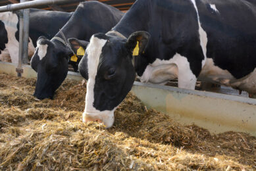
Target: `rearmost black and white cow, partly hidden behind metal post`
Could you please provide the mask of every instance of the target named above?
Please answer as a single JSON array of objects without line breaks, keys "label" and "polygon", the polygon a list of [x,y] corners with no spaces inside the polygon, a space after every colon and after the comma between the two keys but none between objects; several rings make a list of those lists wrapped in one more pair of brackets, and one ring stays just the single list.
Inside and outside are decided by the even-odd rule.
[{"label": "rearmost black and white cow, partly hidden behind metal post", "polygon": [[[39,36],[52,38],[66,24],[73,12],[30,9],[28,56],[32,57]],[[0,13],[0,61],[18,63],[19,16],[14,12]],[[11,60],[10,60],[11,57]]]}]

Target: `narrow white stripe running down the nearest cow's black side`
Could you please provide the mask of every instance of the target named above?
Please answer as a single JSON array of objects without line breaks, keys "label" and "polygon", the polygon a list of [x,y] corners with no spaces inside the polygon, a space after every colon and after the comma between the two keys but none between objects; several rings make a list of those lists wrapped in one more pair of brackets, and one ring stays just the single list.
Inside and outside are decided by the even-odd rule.
[{"label": "narrow white stripe running down the nearest cow's black side", "polygon": [[203,55],[205,57],[205,59],[202,61],[202,68],[203,68],[203,66],[205,65],[206,58],[207,58],[206,53],[207,53],[207,42],[208,42],[208,39],[207,39],[207,34],[206,34],[205,30],[203,30],[203,28],[201,26],[201,22],[200,22],[200,18],[199,18],[199,14],[198,14],[198,9],[197,9],[197,6],[195,4],[195,0],[191,0],[191,1],[193,3],[193,6],[195,7],[195,11],[197,12],[200,45],[201,45],[201,48],[203,50]]}]

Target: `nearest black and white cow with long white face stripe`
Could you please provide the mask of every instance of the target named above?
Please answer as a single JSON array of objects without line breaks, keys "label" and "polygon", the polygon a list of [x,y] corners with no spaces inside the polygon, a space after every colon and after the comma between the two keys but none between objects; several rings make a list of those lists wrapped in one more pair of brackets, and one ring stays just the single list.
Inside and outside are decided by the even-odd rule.
[{"label": "nearest black and white cow with long white face stripe", "polygon": [[83,121],[107,128],[142,82],[194,89],[197,78],[256,93],[256,1],[137,0],[107,34],[95,34],[79,64],[86,80]]}]

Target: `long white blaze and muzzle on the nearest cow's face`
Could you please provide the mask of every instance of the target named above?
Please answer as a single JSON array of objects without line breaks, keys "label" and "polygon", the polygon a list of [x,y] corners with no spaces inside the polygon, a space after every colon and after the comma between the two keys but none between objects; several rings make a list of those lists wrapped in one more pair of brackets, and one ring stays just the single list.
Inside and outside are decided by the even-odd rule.
[{"label": "long white blaze and muzzle on the nearest cow's face", "polygon": [[105,43],[106,39],[99,39],[92,36],[90,39],[90,44],[86,49],[86,55],[88,57],[88,82],[87,82],[87,92],[86,92],[86,107],[83,113],[83,122],[87,121],[98,121],[103,122],[107,128],[110,128],[114,123],[114,111],[104,110],[99,111],[93,107],[94,102],[94,86],[95,78],[97,75],[97,68],[99,65],[99,57]]}]

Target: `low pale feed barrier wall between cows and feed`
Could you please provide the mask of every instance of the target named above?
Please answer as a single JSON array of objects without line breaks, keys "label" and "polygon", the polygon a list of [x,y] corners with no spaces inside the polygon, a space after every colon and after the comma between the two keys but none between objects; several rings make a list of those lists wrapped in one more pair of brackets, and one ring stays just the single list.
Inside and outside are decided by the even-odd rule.
[{"label": "low pale feed barrier wall between cows and feed", "polygon": [[[15,76],[15,67],[12,63],[0,62],[0,74]],[[36,78],[36,72],[29,65],[23,68],[25,78]],[[83,79],[75,72],[68,72],[67,78]],[[236,131],[256,136],[256,99],[140,82],[134,83],[132,93],[148,109],[159,110],[178,122],[196,124],[216,134]]]}]

